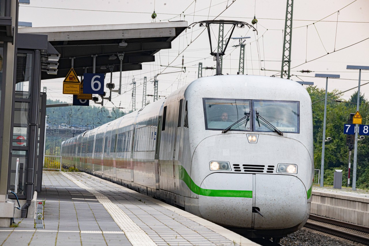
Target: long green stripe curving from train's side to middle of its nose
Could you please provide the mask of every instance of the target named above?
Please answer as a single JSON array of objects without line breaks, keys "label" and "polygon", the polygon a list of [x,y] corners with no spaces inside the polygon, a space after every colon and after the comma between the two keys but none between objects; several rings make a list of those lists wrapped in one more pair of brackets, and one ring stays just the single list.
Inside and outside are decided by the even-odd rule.
[{"label": "long green stripe curving from train's side to middle of its nose", "polygon": [[197,194],[203,195],[207,197],[246,197],[252,198],[252,191],[237,191],[237,190],[228,190],[228,189],[203,189],[200,188],[193,180],[190,175],[188,175],[187,171],[180,165],[176,165],[179,171],[179,179],[183,180],[186,183],[187,187],[190,190]]}]

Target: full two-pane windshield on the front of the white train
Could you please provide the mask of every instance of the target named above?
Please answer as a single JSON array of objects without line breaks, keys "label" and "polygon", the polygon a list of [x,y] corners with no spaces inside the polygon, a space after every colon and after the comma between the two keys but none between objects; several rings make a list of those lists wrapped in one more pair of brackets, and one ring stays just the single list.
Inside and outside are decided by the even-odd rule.
[{"label": "full two-pane windshield on the front of the white train", "polygon": [[224,130],[250,113],[230,130],[273,132],[270,123],[284,133],[300,133],[299,101],[203,98],[203,107],[206,130]]}]

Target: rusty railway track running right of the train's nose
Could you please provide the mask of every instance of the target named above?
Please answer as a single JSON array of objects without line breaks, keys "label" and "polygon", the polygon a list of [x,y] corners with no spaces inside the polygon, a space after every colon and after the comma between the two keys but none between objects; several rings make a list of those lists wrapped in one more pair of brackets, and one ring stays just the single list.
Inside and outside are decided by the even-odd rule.
[{"label": "rusty railway track running right of the train's nose", "polygon": [[305,227],[338,236],[352,242],[369,245],[369,227],[366,226],[310,215]]}]

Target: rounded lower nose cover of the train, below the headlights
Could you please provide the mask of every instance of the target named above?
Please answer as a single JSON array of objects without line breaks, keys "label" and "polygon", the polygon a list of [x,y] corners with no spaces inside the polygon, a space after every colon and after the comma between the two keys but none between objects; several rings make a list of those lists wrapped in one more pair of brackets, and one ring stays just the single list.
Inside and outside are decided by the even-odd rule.
[{"label": "rounded lower nose cover of the train, below the headlights", "polygon": [[[220,225],[292,228],[304,221],[309,210],[306,189],[292,175],[214,173],[200,188],[213,192],[199,195],[201,216]],[[263,216],[252,211],[253,207],[259,208]]]}]

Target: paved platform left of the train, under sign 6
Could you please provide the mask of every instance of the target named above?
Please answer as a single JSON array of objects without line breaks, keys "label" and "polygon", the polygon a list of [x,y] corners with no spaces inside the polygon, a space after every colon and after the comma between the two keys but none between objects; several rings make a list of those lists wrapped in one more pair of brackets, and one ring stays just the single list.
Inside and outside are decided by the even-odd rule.
[{"label": "paved platform left of the train, under sign 6", "polygon": [[[44,172],[36,219],[0,245],[258,245],[212,222],[82,172]],[[30,211],[29,211],[30,212]]]}]

